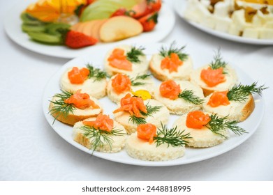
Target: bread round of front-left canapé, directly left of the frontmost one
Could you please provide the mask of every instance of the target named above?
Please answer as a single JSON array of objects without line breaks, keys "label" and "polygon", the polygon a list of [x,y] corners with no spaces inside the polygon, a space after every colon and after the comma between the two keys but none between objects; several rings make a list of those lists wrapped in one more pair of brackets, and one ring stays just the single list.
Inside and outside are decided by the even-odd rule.
[{"label": "bread round of front-left canap\u00e9, directly left of the frontmost one", "polygon": [[[86,120],[94,121],[96,120],[96,118],[95,117],[87,118]],[[85,131],[82,130],[81,128],[82,126],[84,126],[82,121],[75,123],[75,125],[73,126],[73,135],[72,135],[73,140],[80,143],[82,146],[88,149],[94,150],[94,146],[93,146],[94,138],[85,136],[84,135]],[[124,135],[120,135],[120,136],[109,135],[110,139],[112,139],[111,145],[105,142],[103,146],[97,147],[96,151],[103,152],[103,153],[117,153],[122,148],[124,148],[125,140],[127,137],[126,130],[124,129],[122,125],[117,123],[115,120],[114,120],[113,129],[121,130],[121,133],[124,133]]]}]

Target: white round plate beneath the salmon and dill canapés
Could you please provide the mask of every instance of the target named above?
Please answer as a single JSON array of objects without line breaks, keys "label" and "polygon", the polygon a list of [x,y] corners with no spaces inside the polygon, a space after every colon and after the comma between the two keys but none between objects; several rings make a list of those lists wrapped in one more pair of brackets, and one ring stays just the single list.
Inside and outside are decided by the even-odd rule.
[{"label": "white round plate beneath the salmon and dill canap\u00e9s", "polygon": [[[147,58],[150,59],[152,54],[155,54],[158,52],[158,50],[161,48],[163,44],[156,43],[153,45],[142,45],[145,49],[145,54],[147,54]],[[138,45],[137,45],[138,46]],[[169,45],[165,45],[166,47],[169,47]],[[193,66],[194,68],[198,68],[201,65],[204,65],[206,63],[209,63],[214,56],[214,52],[206,52],[206,49],[203,49],[202,54],[198,53],[195,48],[189,47],[189,45],[185,49],[186,53],[190,54],[193,59]],[[79,143],[76,143],[72,139],[72,130],[73,127],[69,125],[65,125],[64,123],[59,122],[58,120],[55,120],[54,124],[53,120],[54,118],[48,114],[48,107],[50,104],[50,100],[52,99],[52,96],[56,93],[60,93],[59,88],[59,79],[61,78],[61,75],[64,73],[64,71],[67,68],[73,67],[73,66],[82,66],[84,67],[87,63],[92,63],[94,66],[98,68],[103,68],[103,59],[105,57],[105,49],[97,49],[91,54],[86,54],[84,56],[80,56],[76,59],[73,59],[71,61],[68,61],[62,68],[57,71],[56,74],[53,75],[53,77],[50,79],[50,81],[45,86],[45,90],[43,93],[43,113],[45,115],[45,118],[47,119],[48,123],[52,126],[53,130],[59,134],[63,139],[68,141],[68,143],[71,143],[71,145],[75,146],[76,148],[79,148],[80,150],[86,152],[86,153],[93,153],[92,150],[89,150],[85,148],[84,146],[80,145]],[[223,59],[225,59],[222,51]],[[231,63],[231,62],[229,62]],[[237,75],[240,79],[240,81],[243,84],[252,84],[253,79],[246,75],[242,70],[237,68],[237,66],[233,65],[233,68],[237,71]],[[157,84],[159,84],[159,81],[157,81]],[[113,162],[120,162],[124,164],[135,164],[140,166],[172,166],[172,165],[179,165],[179,164],[189,164],[192,162],[199,162],[204,159],[209,159],[212,157],[215,157],[217,155],[221,155],[223,153],[228,152],[229,150],[235,148],[236,146],[239,146],[241,143],[246,141],[246,139],[249,139],[251,135],[257,130],[258,125],[260,124],[261,119],[263,118],[264,113],[264,107],[265,102],[263,98],[260,96],[254,95],[254,99],[256,102],[256,107],[244,122],[239,123],[240,127],[243,127],[244,130],[246,130],[247,134],[243,134],[242,136],[237,136],[235,134],[231,134],[230,139],[224,141],[218,146],[214,146],[212,148],[186,148],[186,153],[184,157],[181,157],[179,159],[165,161],[165,162],[148,162],[148,161],[142,161],[138,159],[133,159],[132,157],[128,156],[126,154],[126,151],[123,149],[119,153],[99,153],[94,152],[93,155],[96,157],[101,157],[103,159],[108,159]],[[101,104],[103,105],[103,109],[105,111],[105,114],[109,114],[111,118],[113,118],[112,111],[114,109],[117,109],[117,105],[112,103],[107,97],[99,100]],[[168,126],[171,127],[172,123],[178,116],[171,115],[170,121],[168,123]],[[243,156],[242,156],[243,157]]]}]

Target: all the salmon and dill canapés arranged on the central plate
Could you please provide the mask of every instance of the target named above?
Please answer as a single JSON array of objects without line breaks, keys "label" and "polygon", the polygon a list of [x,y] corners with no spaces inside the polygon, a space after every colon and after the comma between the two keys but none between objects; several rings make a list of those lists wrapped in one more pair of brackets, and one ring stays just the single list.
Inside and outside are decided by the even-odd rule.
[{"label": "all the salmon and dill canap\u00e9s arranged on the central plate", "polygon": [[265,86],[240,83],[220,50],[198,69],[185,50],[172,43],[148,55],[142,46],[119,45],[105,52],[101,68],[75,64],[50,100],[53,123],[71,125],[73,140],[93,152],[124,149],[147,161],[178,159],[187,148],[246,133],[238,123],[251,115],[253,95]]}]

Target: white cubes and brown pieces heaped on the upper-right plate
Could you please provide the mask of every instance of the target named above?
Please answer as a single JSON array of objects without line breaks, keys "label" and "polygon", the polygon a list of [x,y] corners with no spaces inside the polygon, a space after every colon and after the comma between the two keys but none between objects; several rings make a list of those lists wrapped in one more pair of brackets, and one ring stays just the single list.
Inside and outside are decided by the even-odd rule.
[{"label": "white cubes and brown pieces heaped on the upper-right plate", "polygon": [[184,17],[234,36],[273,39],[272,0],[187,0]]}]

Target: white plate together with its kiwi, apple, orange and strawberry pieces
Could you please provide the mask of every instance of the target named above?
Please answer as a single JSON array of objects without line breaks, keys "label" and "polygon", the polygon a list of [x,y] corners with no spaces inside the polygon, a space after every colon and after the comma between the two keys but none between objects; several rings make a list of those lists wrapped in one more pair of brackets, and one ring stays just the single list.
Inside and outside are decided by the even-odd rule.
[{"label": "white plate together with its kiwi, apple, orange and strawberry pieces", "polygon": [[[24,48],[71,59],[101,45],[157,42],[165,38],[175,24],[175,15],[161,1],[157,8],[152,7],[156,2],[29,0],[8,11],[4,29],[11,40]],[[145,22],[149,16],[157,24]]]}]

